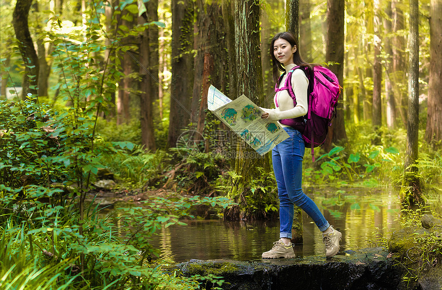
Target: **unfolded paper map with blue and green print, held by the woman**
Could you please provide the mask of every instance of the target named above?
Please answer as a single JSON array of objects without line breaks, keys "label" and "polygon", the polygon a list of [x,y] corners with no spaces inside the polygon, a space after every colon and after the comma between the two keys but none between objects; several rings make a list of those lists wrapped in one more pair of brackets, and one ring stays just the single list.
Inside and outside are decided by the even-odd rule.
[{"label": "unfolded paper map with blue and green print, held by the woman", "polygon": [[278,122],[262,119],[264,111],[244,94],[232,101],[210,86],[207,107],[260,155],[289,137]]}]

